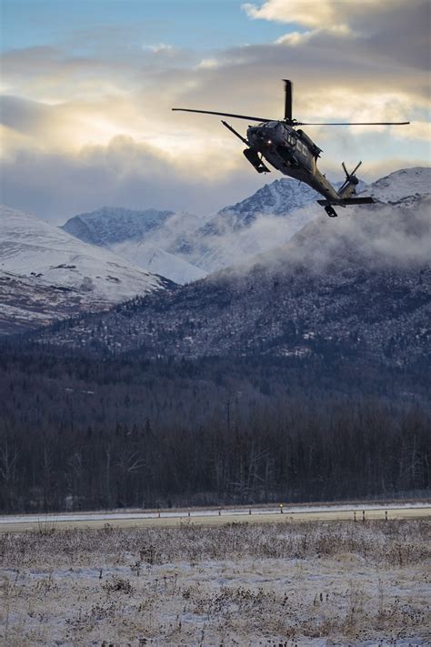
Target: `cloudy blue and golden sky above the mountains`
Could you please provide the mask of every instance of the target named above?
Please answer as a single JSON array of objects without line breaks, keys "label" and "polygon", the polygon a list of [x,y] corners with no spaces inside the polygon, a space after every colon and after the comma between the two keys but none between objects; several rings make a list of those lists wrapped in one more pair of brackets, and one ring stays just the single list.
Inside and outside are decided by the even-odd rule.
[{"label": "cloudy blue and golden sky above the mountains", "polygon": [[[319,167],[366,181],[430,164],[428,0],[0,0],[1,196],[63,223],[102,206],[209,214],[258,175],[217,116],[281,118],[283,78]],[[246,134],[246,121],[230,123]]]}]

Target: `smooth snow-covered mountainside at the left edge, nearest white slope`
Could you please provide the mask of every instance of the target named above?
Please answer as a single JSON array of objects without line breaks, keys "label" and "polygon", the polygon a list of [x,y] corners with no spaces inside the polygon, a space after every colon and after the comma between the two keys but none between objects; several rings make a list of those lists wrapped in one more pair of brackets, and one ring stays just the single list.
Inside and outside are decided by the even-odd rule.
[{"label": "smooth snow-covered mountainside at the left edge, nearest white slope", "polygon": [[166,288],[169,281],[58,227],[0,207],[0,331],[31,329]]}]

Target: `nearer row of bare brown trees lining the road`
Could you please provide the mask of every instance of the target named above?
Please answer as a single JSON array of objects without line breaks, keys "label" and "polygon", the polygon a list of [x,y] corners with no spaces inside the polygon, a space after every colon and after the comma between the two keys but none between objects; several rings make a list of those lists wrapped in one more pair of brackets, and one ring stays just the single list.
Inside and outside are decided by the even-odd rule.
[{"label": "nearer row of bare brown trees lining the road", "polygon": [[2,434],[2,511],[340,500],[430,487],[430,420],[371,402]]}]

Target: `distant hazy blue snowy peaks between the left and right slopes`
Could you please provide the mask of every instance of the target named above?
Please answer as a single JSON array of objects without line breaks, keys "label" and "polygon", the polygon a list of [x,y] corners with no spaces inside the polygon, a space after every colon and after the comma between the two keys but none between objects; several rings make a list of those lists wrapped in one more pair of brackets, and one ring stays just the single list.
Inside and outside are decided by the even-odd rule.
[{"label": "distant hazy blue snowy peaks between the left and right slopes", "polygon": [[[360,182],[358,189],[365,186]],[[185,284],[286,242],[316,215],[299,207],[317,198],[310,187],[283,177],[209,217],[103,207],[70,218],[62,228]]]}]

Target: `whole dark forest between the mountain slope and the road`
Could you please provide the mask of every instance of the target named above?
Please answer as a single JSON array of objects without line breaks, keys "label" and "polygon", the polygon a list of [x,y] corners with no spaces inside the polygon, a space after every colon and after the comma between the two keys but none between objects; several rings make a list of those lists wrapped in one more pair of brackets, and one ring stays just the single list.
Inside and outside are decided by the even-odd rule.
[{"label": "whole dark forest between the mountain slope and the road", "polygon": [[0,351],[2,512],[429,495],[417,373],[333,356]]}]

